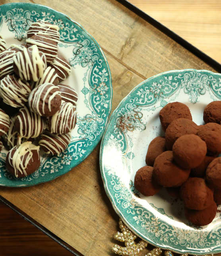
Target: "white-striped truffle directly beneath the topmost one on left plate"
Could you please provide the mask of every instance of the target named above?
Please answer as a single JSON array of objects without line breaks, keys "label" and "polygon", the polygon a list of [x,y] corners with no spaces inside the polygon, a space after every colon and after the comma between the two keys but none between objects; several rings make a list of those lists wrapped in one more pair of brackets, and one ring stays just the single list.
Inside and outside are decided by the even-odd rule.
[{"label": "white-striped truffle directly beneath the topmost one on left plate", "polygon": [[58,41],[49,35],[38,32],[36,35],[27,38],[26,43],[28,46],[36,45],[39,51],[45,53],[47,63],[51,63],[57,57]]}]

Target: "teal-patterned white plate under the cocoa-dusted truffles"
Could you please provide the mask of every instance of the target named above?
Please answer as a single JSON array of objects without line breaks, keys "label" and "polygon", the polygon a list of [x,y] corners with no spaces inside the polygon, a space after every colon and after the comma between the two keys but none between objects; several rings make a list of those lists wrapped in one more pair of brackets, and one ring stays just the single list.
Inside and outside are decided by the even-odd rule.
[{"label": "teal-patterned white plate under the cocoa-dusted truffles", "polygon": [[151,197],[139,194],[134,176],[146,165],[150,141],[163,135],[159,121],[162,107],[182,102],[200,125],[204,107],[214,100],[221,100],[221,74],[193,69],[158,74],[122,100],[110,117],[101,143],[101,174],[116,213],[143,240],[180,254],[221,252],[221,207],[212,223],[194,227],[184,217],[181,201],[166,190]]}]

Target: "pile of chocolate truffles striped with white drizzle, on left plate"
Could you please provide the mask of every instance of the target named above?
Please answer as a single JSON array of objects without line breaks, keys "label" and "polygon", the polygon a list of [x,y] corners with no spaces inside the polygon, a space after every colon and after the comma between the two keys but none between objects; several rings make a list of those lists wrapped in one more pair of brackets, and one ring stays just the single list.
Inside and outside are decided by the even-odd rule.
[{"label": "pile of chocolate truffles striped with white drizzle, on left plate", "polygon": [[40,149],[59,155],[76,125],[76,90],[61,82],[71,72],[58,52],[59,27],[31,24],[26,44],[11,45],[0,35],[0,150],[9,150],[6,168],[21,178],[40,166]]}]

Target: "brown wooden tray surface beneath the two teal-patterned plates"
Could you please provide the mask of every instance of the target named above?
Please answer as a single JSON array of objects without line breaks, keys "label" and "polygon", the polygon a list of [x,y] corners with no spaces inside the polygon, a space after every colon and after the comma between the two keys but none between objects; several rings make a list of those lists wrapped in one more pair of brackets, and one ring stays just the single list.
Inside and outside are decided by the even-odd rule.
[{"label": "brown wooden tray surface beneath the two teal-patterned plates", "polygon": [[[9,2],[14,1],[1,1]],[[137,84],[157,73],[183,68],[215,71],[115,0],[25,2],[67,14],[97,40],[112,74],[112,111]],[[100,144],[81,164],[56,180],[30,188],[0,188],[0,195],[71,250],[87,256],[112,255],[118,216],[103,188],[99,149]]]}]

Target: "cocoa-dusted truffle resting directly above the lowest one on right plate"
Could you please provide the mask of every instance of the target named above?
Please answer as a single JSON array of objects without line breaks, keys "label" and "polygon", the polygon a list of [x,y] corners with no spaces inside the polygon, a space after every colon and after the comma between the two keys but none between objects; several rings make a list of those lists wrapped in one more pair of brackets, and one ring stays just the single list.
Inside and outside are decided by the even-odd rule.
[{"label": "cocoa-dusted truffle resting directly above the lowest one on right plate", "polygon": [[185,207],[194,210],[203,210],[211,205],[213,192],[205,184],[203,178],[188,178],[180,188],[180,197]]}]

